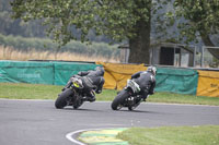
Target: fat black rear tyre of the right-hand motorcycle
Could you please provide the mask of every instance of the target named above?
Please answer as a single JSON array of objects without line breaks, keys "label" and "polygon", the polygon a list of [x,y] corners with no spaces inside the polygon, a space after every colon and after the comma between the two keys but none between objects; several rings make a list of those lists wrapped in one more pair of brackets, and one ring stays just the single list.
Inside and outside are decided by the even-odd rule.
[{"label": "fat black rear tyre of the right-hand motorcycle", "polygon": [[111,108],[113,110],[119,110],[122,108],[122,104],[124,102],[124,100],[126,98],[129,97],[129,93],[125,89],[123,89],[117,96],[116,98],[113,100],[113,102],[111,104]]}]

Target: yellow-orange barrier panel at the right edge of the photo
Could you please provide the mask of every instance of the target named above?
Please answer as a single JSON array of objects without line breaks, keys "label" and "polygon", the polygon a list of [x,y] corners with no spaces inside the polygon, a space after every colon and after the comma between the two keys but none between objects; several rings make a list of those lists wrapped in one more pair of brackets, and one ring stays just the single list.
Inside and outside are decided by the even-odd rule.
[{"label": "yellow-orange barrier panel at the right edge of the photo", "polygon": [[219,97],[219,72],[198,71],[197,96]]}]

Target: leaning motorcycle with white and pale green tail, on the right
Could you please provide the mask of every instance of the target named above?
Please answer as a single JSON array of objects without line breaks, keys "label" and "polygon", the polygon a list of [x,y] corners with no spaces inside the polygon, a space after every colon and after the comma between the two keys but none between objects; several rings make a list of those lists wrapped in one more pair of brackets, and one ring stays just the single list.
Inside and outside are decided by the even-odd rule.
[{"label": "leaning motorcycle with white and pale green tail, on the right", "polygon": [[119,110],[127,107],[128,110],[134,110],[142,101],[140,96],[140,87],[134,80],[127,80],[127,85],[113,100],[111,107],[113,110]]}]

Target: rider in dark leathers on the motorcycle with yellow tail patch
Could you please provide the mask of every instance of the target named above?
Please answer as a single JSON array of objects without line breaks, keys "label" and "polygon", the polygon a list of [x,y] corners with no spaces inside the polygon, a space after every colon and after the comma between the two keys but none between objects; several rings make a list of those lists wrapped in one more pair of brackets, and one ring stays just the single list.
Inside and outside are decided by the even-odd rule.
[{"label": "rider in dark leathers on the motorcycle with yellow tail patch", "polygon": [[[88,96],[89,101],[95,101],[95,94],[93,90],[95,90],[96,94],[102,93],[103,85],[105,83],[105,80],[103,77],[104,75],[104,69],[102,67],[96,67],[95,70],[90,71],[81,71],[77,75],[72,75],[71,77],[79,77],[82,81],[83,84],[83,90]],[[67,83],[67,85],[62,88],[65,90],[71,85],[71,78]]]}]

